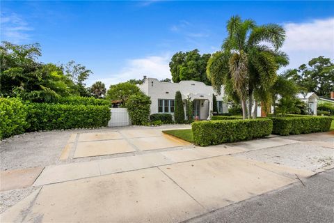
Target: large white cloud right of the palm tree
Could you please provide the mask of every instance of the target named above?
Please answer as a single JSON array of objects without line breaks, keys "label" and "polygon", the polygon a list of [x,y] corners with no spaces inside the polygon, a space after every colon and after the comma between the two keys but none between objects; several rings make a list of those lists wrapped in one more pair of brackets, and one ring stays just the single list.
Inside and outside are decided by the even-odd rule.
[{"label": "large white cloud right of the palm tree", "polygon": [[289,55],[288,68],[298,68],[317,56],[334,59],[334,18],[284,24],[287,38],[282,47]]}]

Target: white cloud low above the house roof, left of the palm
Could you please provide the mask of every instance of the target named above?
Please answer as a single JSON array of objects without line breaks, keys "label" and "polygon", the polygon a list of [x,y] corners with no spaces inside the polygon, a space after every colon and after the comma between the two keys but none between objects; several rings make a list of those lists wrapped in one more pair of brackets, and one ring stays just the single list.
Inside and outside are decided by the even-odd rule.
[{"label": "white cloud low above the house roof, left of the palm", "polygon": [[110,84],[126,82],[129,79],[142,79],[144,75],[157,79],[170,78],[169,61],[169,53],[162,56],[146,56],[139,59],[130,59],[125,63],[125,68],[122,68],[120,72],[110,74],[109,77],[103,78],[101,81],[109,87]]}]

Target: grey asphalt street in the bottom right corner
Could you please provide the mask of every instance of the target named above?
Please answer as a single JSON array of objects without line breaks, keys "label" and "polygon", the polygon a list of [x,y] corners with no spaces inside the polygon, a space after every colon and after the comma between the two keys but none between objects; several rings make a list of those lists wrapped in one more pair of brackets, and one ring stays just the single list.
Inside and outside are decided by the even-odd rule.
[{"label": "grey asphalt street in the bottom right corner", "polygon": [[186,222],[334,222],[334,169]]}]

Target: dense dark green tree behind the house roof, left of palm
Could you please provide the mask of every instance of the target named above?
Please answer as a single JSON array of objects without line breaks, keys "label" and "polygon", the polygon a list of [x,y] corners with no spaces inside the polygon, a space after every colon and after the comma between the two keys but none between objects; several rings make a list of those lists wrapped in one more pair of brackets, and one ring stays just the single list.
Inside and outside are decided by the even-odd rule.
[{"label": "dense dark green tree behind the house roof, left of palm", "polygon": [[194,80],[210,85],[206,74],[207,61],[210,56],[210,54],[202,54],[201,56],[198,49],[174,54],[169,63],[173,82]]}]

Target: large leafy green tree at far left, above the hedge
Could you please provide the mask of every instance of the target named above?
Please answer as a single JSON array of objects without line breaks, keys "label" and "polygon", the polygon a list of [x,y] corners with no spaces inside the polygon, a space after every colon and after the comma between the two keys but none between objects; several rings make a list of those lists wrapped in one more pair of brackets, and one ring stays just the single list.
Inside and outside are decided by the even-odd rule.
[{"label": "large leafy green tree at far left, above the hedge", "polygon": [[54,102],[71,95],[74,83],[63,70],[38,61],[40,45],[14,45],[3,42],[0,47],[0,94],[19,96],[33,102]]}]

